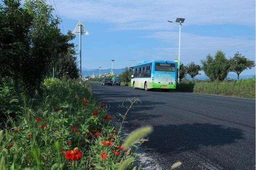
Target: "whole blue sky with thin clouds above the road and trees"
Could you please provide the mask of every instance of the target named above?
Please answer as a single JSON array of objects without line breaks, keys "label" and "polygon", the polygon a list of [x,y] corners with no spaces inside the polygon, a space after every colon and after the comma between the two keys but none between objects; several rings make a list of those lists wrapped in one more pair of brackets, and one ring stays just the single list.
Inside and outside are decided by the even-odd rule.
[{"label": "whole blue sky with thin clouds above the road and trees", "polygon": [[[53,0],[47,0],[54,4]],[[182,28],[182,63],[200,64],[220,49],[255,60],[254,0],[54,0],[66,33],[82,20],[82,67],[122,68],[136,61],[178,57],[177,17]],[[54,7],[55,8],[55,7]],[[58,13],[56,12],[56,13]],[[54,13],[55,14],[55,13]],[[74,40],[78,45],[78,37]],[[79,55],[78,55],[79,56]],[[255,68],[242,75],[255,74]]]}]

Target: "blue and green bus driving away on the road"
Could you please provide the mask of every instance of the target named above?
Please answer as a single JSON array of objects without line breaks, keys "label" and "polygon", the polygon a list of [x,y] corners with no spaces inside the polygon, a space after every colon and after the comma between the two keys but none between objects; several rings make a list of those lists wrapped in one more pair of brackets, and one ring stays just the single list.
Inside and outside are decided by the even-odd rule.
[{"label": "blue and green bus driving away on the road", "polygon": [[132,66],[131,86],[145,89],[176,89],[178,62],[142,61]]}]

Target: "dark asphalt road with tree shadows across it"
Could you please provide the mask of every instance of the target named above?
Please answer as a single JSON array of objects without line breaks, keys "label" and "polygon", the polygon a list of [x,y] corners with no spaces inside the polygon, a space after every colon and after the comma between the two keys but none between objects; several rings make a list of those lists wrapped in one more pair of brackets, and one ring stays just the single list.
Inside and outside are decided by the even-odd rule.
[{"label": "dark asphalt road with tree shadows across it", "polygon": [[255,100],[195,93],[144,91],[92,84],[94,95],[110,106],[118,120],[128,98],[138,97],[124,130],[151,125],[142,145],[162,169],[183,162],[180,169],[254,169]]}]

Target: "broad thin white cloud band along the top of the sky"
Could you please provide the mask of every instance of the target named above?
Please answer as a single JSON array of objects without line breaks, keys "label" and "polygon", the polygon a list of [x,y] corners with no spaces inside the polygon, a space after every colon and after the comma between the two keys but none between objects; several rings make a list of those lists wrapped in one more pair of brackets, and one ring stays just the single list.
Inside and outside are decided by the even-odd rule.
[{"label": "broad thin white cloud band along the top of the sky", "polygon": [[166,30],[167,20],[186,18],[192,24],[254,26],[254,0],[55,0],[65,18],[114,24],[120,30]]}]

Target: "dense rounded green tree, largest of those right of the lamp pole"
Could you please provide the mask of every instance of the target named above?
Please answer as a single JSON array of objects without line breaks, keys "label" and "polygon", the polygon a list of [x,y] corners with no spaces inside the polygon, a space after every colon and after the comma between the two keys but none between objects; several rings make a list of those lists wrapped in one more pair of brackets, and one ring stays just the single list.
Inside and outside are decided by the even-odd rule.
[{"label": "dense rounded green tree, largest of those right of the lamp pole", "polygon": [[208,54],[206,60],[201,60],[202,70],[211,81],[223,81],[229,72],[230,64],[225,54],[218,50],[214,58]]}]

